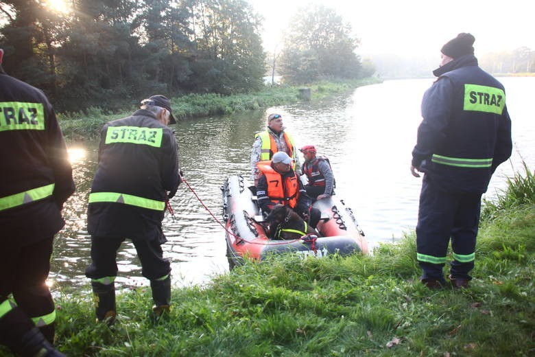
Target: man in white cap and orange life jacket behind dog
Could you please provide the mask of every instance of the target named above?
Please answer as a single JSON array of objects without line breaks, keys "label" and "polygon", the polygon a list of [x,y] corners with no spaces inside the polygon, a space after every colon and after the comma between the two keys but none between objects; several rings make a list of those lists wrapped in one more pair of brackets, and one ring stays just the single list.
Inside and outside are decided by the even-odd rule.
[{"label": "man in white cap and orange life jacket behind dog", "polygon": [[277,204],[288,205],[311,227],[320,221],[320,211],[311,206],[312,200],[292,169],[292,158],[286,152],[276,152],[269,161],[257,163],[259,180],[257,202],[264,214],[269,214]]}]

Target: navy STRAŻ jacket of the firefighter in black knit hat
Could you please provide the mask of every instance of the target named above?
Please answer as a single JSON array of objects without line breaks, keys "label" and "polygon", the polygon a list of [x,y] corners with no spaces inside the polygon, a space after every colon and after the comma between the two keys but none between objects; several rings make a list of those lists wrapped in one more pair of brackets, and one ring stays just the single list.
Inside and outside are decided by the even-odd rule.
[{"label": "navy STRA\u017b jacket of the firefighter in black knit hat", "polygon": [[[511,155],[505,89],[479,68],[473,55],[455,58],[433,73],[440,77],[423,97],[412,165],[444,191],[482,194],[492,173]],[[441,158],[467,165],[440,163]],[[486,165],[475,167],[474,161]]]}]

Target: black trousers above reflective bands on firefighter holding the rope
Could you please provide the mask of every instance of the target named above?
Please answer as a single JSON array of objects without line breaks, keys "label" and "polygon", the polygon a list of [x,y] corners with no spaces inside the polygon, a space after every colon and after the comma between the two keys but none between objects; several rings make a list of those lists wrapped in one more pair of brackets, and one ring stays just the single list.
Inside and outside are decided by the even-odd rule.
[{"label": "black trousers above reflective bands on firefighter holding the rope", "polygon": [[[126,238],[91,237],[91,265],[86,269],[86,277],[101,279],[117,276],[117,250]],[[137,255],[141,261],[141,275],[154,280],[165,277],[171,272],[169,260],[163,258],[160,242],[133,239]]]}]

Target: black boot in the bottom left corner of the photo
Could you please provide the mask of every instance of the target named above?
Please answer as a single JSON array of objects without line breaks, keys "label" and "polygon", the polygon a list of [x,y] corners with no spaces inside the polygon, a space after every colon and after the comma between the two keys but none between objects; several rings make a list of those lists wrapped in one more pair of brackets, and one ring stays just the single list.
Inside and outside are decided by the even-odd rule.
[{"label": "black boot in the bottom left corner of the photo", "polygon": [[62,357],[20,309],[13,308],[0,319],[0,344],[23,357]]}]

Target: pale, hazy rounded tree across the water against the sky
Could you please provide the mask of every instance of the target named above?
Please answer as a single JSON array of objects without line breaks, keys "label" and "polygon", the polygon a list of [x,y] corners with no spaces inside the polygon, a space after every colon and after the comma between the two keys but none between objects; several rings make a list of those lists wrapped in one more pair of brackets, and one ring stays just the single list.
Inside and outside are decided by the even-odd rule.
[{"label": "pale, hazy rounded tree across the water against the sky", "polygon": [[323,5],[302,8],[292,19],[281,54],[281,74],[292,83],[319,78],[362,78],[350,25]]}]

